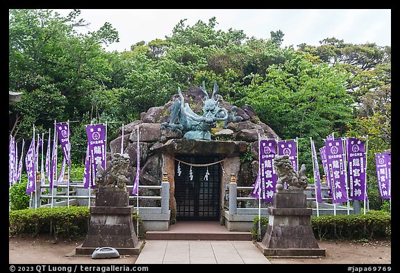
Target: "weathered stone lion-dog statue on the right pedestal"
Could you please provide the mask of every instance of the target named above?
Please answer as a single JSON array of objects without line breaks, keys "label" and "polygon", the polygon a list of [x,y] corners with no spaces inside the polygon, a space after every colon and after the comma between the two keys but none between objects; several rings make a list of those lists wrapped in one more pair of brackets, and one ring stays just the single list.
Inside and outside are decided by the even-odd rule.
[{"label": "weathered stone lion-dog statue on the right pedestal", "polygon": [[288,184],[288,190],[304,190],[307,188],[306,165],[301,165],[299,172],[293,169],[289,156],[275,156],[274,167],[278,175],[276,190],[283,190],[283,183]]}]

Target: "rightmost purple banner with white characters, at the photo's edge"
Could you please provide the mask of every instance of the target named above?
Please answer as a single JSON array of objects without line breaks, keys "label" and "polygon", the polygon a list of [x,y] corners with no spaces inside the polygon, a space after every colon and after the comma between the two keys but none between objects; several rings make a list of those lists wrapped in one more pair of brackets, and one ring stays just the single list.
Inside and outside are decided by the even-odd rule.
[{"label": "rightmost purple banner with white characters, at the photo's edge", "polygon": [[376,176],[378,177],[379,192],[382,199],[392,198],[392,158],[385,151],[375,154]]}]

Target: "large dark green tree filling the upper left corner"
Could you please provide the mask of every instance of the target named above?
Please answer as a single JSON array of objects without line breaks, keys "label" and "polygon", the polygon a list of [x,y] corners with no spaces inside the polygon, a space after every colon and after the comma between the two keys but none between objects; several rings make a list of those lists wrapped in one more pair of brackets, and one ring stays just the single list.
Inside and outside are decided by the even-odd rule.
[{"label": "large dark green tree filling the upper left corner", "polygon": [[9,89],[23,92],[10,106],[10,133],[47,133],[53,121],[80,119],[91,108],[90,93],[109,81],[110,55],[103,45],[118,41],[108,23],[78,34],[79,10],[62,17],[52,10],[9,10]]}]

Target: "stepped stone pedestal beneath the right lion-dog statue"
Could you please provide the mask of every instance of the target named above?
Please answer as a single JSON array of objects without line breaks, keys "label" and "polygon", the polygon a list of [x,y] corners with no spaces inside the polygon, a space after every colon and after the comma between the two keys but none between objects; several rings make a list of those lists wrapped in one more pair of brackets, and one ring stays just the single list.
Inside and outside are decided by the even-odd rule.
[{"label": "stepped stone pedestal beneath the right lion-dog statue", "polygon": [[279,190],[268,208],[269,222],[258,249],[265,256],[325,256],[311,228],[313,209],[303,190]]}]

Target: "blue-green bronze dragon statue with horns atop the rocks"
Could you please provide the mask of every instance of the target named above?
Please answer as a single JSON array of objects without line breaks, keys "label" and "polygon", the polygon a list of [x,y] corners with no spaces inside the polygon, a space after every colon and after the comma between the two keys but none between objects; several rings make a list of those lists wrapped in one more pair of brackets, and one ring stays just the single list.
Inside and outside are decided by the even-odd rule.
[{"label": "blue-green bronze dragon statue with horns atop the rocks", "polygon": [[[214,82],[214,90],[211,98],[206,92],[206,84],[203,82],[201,91],[204,93],[203,115],[197,115],[190,109],[188,103],[185,103],[181,88],[178,88],[178,94],[181,98],[176,99],[171,109],[171,119],[161,124],[162,128],[170,128],[173,131],[181,130],[183,138],[192,140],[211,140],[210,129],[217,126],[217,122],[224,122],[224,129],[229,122],[240,122],[242,117],[235,116],[237,107],[233,106],[231,114],[225,108],[219,107],[219,101],[215,98],[218,92],[218,85]],[[178,124],[175,124],[175,122]]]}]

